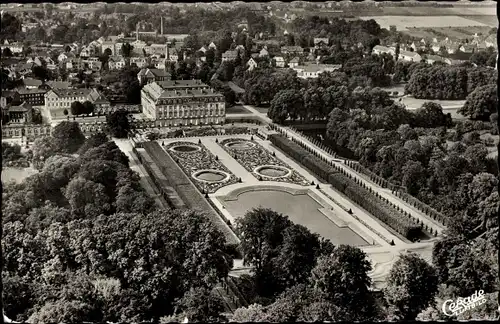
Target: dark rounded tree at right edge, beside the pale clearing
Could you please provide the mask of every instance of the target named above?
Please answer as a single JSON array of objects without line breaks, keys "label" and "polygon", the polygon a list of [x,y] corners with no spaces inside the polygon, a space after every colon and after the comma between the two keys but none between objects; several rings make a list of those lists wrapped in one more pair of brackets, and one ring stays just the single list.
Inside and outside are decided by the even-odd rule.
[{"label": "dark rounded tree at right edge, beside the pale clearing", "polygon": [[459,108],[458,113],[469,116],[470,119],[488,121],[491,114],[498,109],[498,92],[496,84],[477,87]]}]

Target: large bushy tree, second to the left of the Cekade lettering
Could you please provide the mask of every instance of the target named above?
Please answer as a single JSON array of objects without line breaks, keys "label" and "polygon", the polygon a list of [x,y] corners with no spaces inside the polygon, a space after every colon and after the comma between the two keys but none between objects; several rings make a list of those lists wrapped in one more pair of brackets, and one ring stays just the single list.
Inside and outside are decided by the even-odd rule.
[{"label": "large bushy tree, second to the left of the Cekade lettering", "polygon": [[344,321],[374,319],[376,307],[369,287],[371,270],[366,254],[347,245],[318,259],[311,272],[313,294],[340,308]]}]

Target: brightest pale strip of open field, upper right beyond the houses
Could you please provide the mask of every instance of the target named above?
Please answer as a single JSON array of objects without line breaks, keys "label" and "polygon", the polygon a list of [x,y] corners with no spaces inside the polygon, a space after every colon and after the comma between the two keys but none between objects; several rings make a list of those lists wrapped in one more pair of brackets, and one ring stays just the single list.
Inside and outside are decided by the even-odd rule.
[{"label": "brightest pale strip of open field, upper right beyond the houses", "polygon": [[462,18],[459,16],[363,16],[363,20],[374,19],[382,28],[395,25],[398,30],[406,30],[408,27],[470,27],[486,26],[483,23]]}]

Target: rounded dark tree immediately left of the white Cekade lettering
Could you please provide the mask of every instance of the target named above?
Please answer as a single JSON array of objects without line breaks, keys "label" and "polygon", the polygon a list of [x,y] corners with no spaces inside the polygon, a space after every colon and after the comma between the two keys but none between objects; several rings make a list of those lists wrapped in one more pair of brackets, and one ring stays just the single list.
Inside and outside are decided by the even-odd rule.
[{"label": "rounded dark tree immediately left of the white Cekade lettering", "polygon": [[433,305],[437,293],[436,270],[418,255],[401,255],[394,263],[387,281],[385,296],[394,316],[414,320]]}]

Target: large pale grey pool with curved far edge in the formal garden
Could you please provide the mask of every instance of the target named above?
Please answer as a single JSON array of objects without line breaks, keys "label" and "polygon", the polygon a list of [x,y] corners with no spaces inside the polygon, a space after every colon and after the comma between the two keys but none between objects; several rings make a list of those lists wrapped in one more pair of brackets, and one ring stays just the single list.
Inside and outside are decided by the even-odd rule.
[{"label": "large pale grey pool with curved far edge in the formal garden", "polygon": [[289,217],[295,224],[307,227],[311,232],[330,239],[333,244],[353,246],[369,245],[361,236],[348,227],[338,227],[318,209],[322,208],[308,194],[292,195],[275,190],[243,192],[237,200],[222,201],[234,218],[243,217],[248,210],[262,206]]}]

